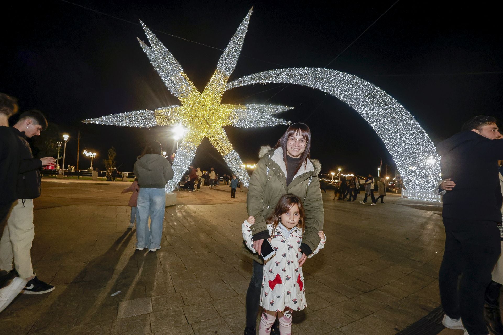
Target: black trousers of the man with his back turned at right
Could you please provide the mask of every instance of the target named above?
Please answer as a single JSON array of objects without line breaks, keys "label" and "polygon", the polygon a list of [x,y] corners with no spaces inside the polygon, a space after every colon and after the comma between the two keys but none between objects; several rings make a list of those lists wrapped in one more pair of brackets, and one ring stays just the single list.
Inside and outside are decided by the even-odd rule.
[{"label": "black trousers of the man with his back turned at right", "polygon": [[484,293],[501,253],[497,223],[444,217],[444,227],[445,249],[439,272],[442,307],[449,317],[461,317],[470,335],[487,335]]}]

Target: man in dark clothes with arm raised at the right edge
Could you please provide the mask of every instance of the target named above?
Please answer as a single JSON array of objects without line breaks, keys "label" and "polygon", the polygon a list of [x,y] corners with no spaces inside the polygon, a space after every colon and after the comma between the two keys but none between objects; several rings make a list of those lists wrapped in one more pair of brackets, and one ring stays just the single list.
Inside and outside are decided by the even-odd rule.
[{"label": "man in dark clothes with arm raised at the right edge", "polygon": [[[443,197],[445,250],[439,273],[444,325],[467,335],[487,335],[484,292],[501,253],[498,224],[503,198],[497,160],[503,141],[492,117],[469,120],[462,132],[441,142],[437,151],[442,177],[456,182]],[[480,182],[475,175],[484,176]],[[459,286],[458,286],[458,279]]]}]

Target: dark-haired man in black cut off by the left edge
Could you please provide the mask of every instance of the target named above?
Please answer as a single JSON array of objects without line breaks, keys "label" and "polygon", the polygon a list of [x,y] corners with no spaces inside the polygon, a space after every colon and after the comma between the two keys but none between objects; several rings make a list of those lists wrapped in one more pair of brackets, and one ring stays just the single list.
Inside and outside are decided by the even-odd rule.
[{"label": "dark-haired man in black cut off by the left edge", "polygon": [[[16,198],[16,181],[19,170],[17,138],[9,128],[9,118],[18,111],[16,99],[0,93],[0,238],[7,223],[7,216]],[[0,312],[25,287],[26,280],[14,272],[0,276]]]}]

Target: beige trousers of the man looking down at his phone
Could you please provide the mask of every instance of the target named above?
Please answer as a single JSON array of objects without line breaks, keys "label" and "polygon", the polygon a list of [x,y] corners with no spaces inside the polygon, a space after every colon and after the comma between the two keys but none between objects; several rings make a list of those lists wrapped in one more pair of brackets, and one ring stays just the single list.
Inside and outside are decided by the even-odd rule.
[{"label": "beige trousers of the man looking down at his phone", "polygon": [[0,269],[12,270],[12,261],[21,278],[33,276],[31,247],[35,237],[33,225],[33,199],[26,199],[25,206],[21,199],[15,203],[7,226],[0,239]]}]

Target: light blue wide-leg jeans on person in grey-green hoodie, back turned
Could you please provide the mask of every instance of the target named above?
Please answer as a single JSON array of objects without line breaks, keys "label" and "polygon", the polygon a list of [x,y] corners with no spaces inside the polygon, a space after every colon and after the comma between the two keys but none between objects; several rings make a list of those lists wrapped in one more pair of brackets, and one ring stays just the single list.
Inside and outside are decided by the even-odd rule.
[{"label": "light blue wide-leg jeans on person in grey-green hoodie, back turned", "polygon": [[[164,188],[140,188],[136,203],[136,247],[156,249],[160,246],[164,223],[166,193]],[[150,216],[150,229],[148,217]]]}]

